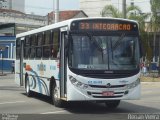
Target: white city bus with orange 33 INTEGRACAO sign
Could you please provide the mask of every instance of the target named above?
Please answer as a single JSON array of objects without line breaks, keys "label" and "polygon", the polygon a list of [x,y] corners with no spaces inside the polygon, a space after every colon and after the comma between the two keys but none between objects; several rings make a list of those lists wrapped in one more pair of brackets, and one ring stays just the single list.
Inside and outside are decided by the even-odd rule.
[{"label": "white city bus with orange 33 INTEGRACAO sign", "polygon": [[137,22],[77,18],[16,36],[15,80],[27,96],[50,96],[62,107],[72,101],[140,99],[140,37]]}]

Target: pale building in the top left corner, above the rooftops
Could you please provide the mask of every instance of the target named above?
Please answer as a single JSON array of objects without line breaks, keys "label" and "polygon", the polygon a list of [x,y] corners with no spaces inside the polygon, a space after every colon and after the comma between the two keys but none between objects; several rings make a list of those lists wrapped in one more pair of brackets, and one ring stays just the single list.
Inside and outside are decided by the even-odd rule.
[{"label": "pale building in the top left corner, above the rooftops", "polygon": [[25,0],[0,0],[0,9],[25,12]]}]

